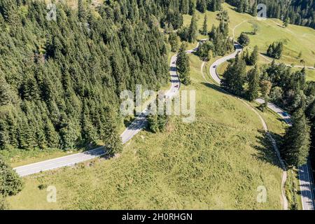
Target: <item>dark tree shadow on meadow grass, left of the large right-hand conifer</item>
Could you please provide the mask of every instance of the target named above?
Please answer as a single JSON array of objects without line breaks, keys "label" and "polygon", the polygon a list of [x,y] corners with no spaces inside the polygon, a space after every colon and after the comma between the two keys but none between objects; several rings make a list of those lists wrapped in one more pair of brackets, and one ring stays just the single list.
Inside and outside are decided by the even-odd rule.
[{"label": "dark tree shadow on meadow grass, left of the large right-hand conifer", "polygon": [[[255,157],[259,160],[262,160],[263,162],[268,162],[269,164],[275,165],[276,167],[282,169],[279,158],[276,155],[276,151],[272,146],[272,141],[268,137],[267,132],[260,130],[259,133],[260,135],[256,137],[256,139],[258,139],[258,145],[253,145],[253,148],[258,151]],[[272,138],[274,138],[276,141],[276,146],[279,148],[279,146],[281,146],[282,137],[274,132],[269,132],[269,134],[271,134]]]}]

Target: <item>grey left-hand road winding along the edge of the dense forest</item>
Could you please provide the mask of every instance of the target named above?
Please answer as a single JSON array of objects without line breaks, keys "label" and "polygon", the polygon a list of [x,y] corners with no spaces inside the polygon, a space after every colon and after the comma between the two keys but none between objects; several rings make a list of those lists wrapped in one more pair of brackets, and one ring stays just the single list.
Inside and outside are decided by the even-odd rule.
[{"label": "grey left-hand road winding along the edge of the dense forest", "polygon": [[[195,48],[192,50],[187,50],[186,53],[192,53],[195,50],[197,50],[199,46],[199,42]],[[181,82],[179,80],[179,76],[176,71],[176,59],[177,55],[174,55],[171,58],[170,62],[170,80],[171,80],[171,87],[169,90],[165,93],[165,97],[172,98],[174,97],[178,92],[179,88],[181,87]],[[132,137],[134,137],[136,134],[138,134],[141,130],[146,127],[147,120],[146,115],[148,114],[148,110],[145,109],[142,111],[142,113],[137,116],[137,118],[132,122],[130,126],[128,126],[123,134],[120,135],[123,144],[127,143],[127,141],[130,141]],[[79,162],[84,162],[87,160],[92,160],[94,158],[98,158],[105,154],[104,148],[99,147],[95,148],[91,151],[86,151],[83,153],[76,153],[73,155],[66,155],[61,158],[55,158],[51,160],[45,160],[41,162],[36,162],[30,165],[24,165],[21,167],[15,167],[13,168],[20,176],[28,176],[31,174],[36,174],[39,172],[51,170],[51,169],[57,169],[60,167],[69,167],[78,164]]]}]

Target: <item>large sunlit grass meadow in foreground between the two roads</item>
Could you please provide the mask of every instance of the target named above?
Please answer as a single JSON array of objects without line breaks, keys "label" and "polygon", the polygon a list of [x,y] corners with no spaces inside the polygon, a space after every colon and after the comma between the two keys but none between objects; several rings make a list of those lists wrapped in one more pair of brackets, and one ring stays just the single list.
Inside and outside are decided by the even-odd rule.
[{"label": "large sunlit grass meadow in foreground between the two roads", "polygon": [[[264,147],[253,111],[204,83],[200,60],[190,56],[196,90],[195,123],[173,117],[167,131],[142,131],[111,160],[26,177],[13,209],[281,209],[281,169]],[[281,124],[276,118],[272,123]],[[281,129],[280,129],[281,130]],[[45,189],[57,188],[57,203]],[[258,186],[267,202],[258,203]]]}]

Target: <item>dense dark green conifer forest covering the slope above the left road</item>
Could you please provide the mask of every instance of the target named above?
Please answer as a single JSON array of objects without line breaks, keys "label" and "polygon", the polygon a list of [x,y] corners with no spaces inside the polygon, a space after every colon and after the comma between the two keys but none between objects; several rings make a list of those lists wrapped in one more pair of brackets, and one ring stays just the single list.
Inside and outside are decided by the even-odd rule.
[{"label": "dense dark green conifer forest covering the slope above the left road", "polygon": [[[78,11],[0,1],[0,147],[73,148],[117,133],[119,94],[168,81],[162,1],[109,1]],[[113,125],[114,124],[114,125]]]}]

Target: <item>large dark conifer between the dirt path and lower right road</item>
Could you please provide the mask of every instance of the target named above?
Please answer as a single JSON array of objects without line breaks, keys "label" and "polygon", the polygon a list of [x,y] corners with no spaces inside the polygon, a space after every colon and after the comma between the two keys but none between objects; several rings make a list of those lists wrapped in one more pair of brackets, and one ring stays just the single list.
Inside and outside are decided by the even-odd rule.
[{"label": "large dark conifer between the dirt path and lower right road", "polygon": [[293,125],[286,131],[281,155],[287,165],[300,167],[307,162],[309,155],[310,127],[303,109],[295,111],[291,119]]}]

